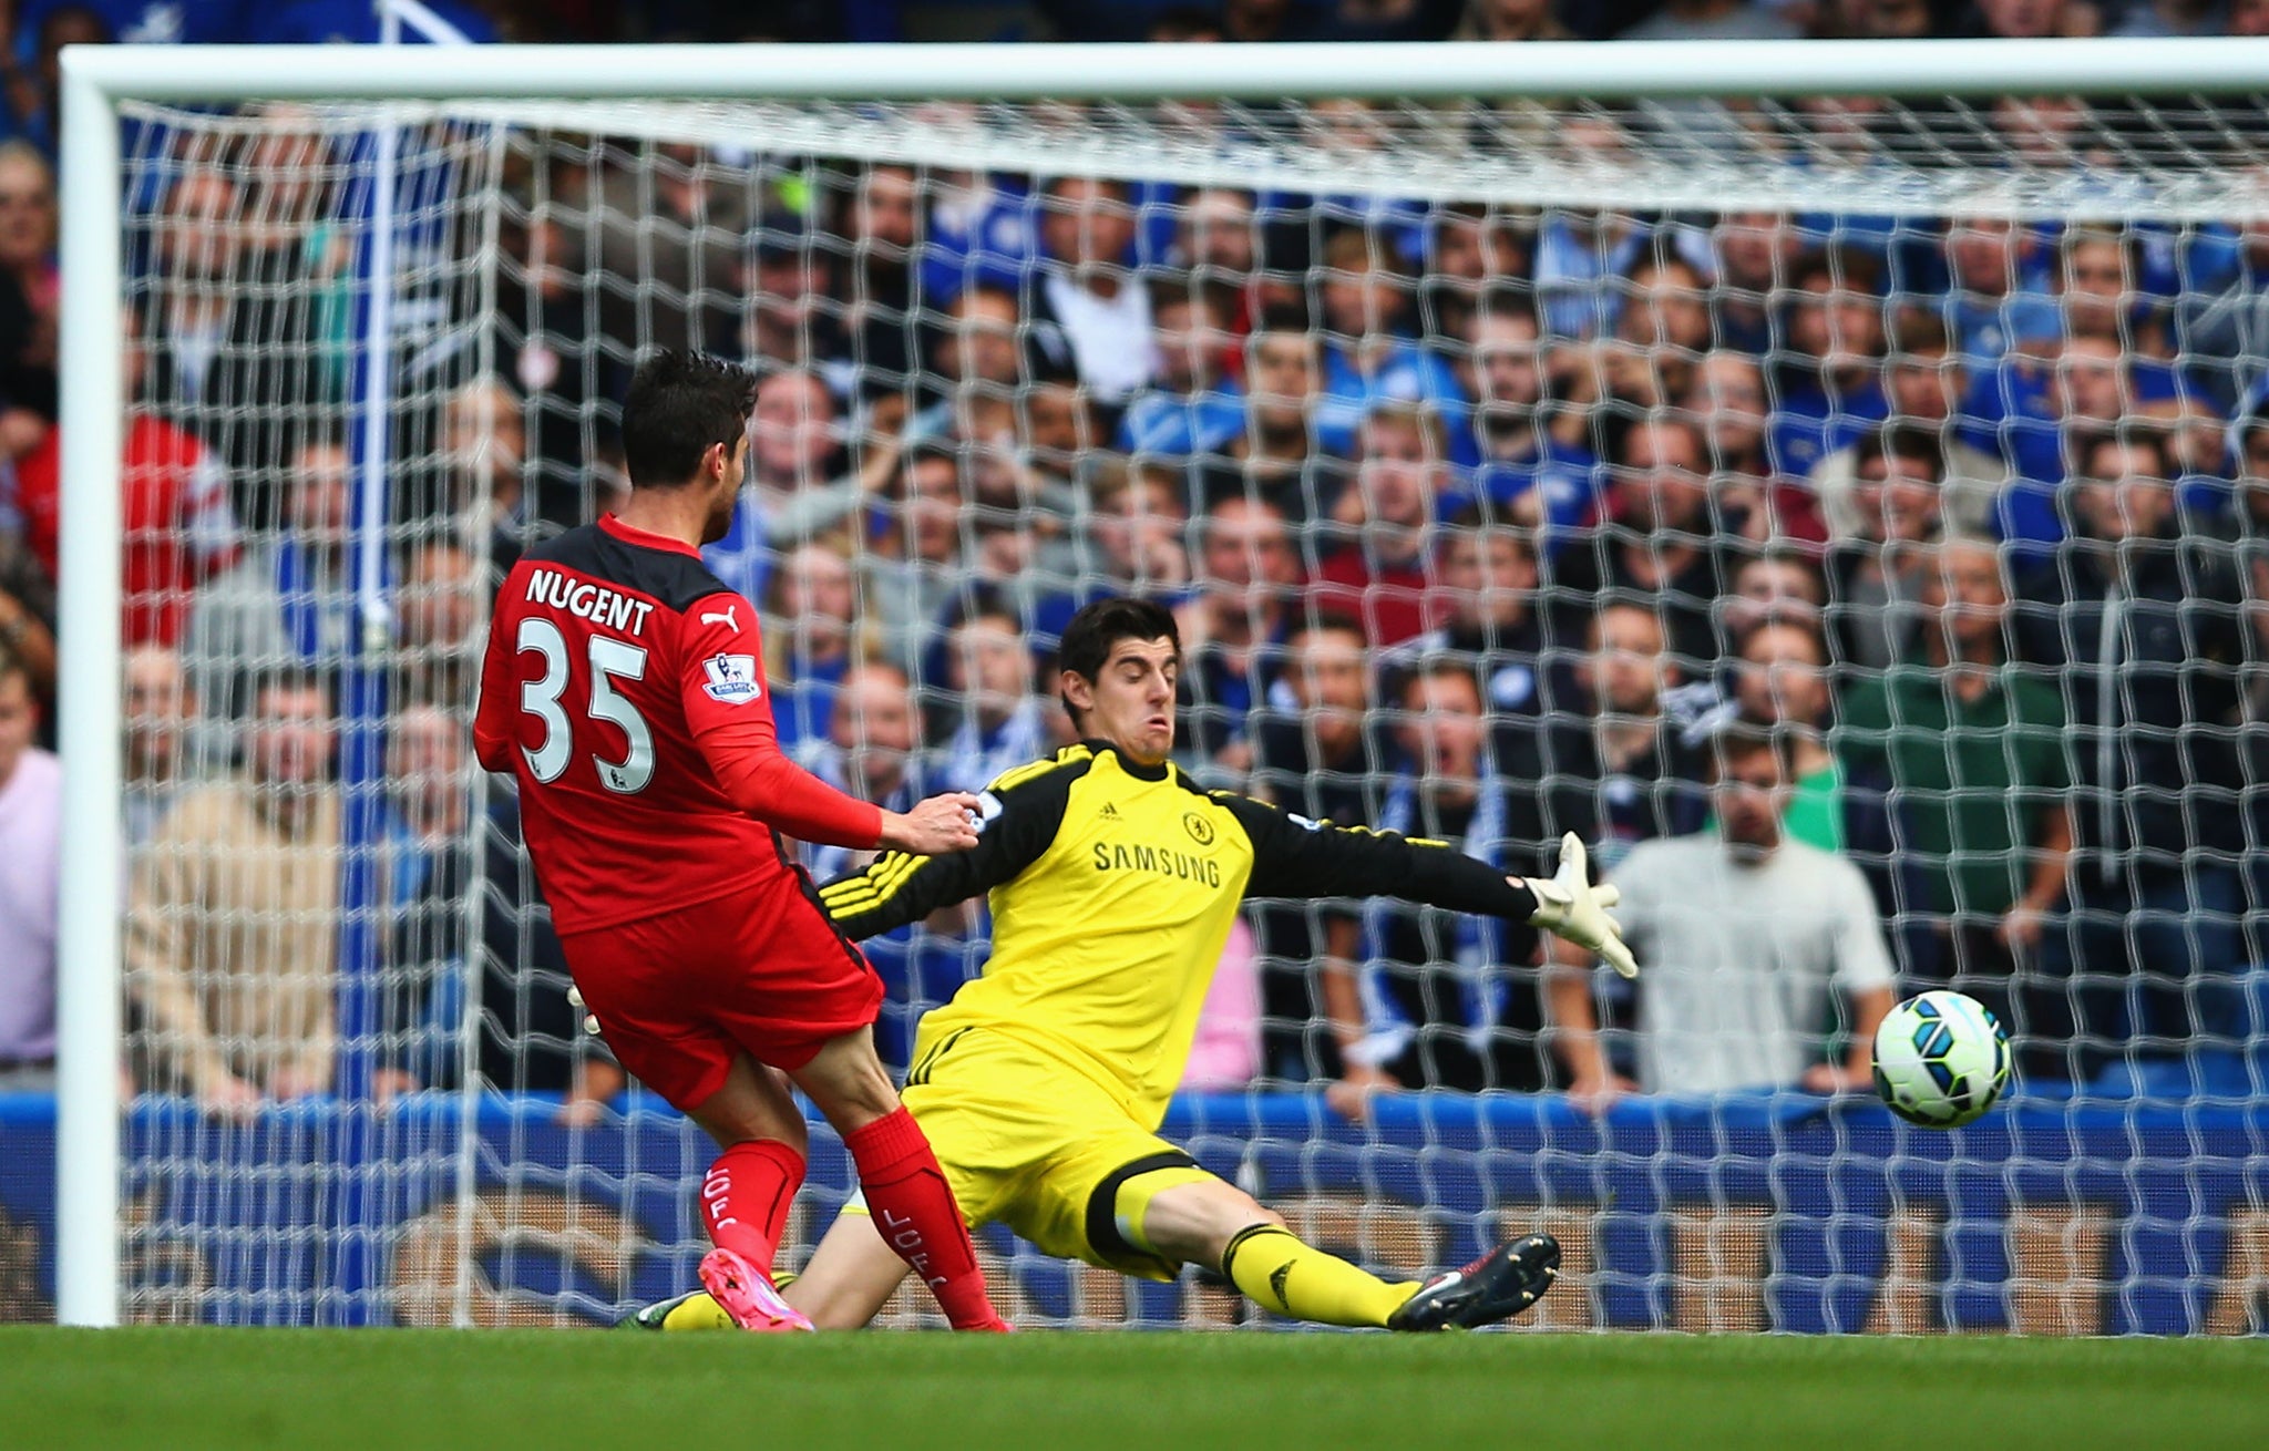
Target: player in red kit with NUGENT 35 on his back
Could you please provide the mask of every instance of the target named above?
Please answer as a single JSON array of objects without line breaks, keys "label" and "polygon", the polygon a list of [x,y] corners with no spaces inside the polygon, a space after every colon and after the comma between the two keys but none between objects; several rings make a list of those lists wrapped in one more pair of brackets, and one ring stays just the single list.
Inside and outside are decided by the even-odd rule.
[{"label": "player in red kit with NUGENT 35 on his back", "polygon": [[631,497],[506,576],[474,741],[520,780],[529,855],[608,1047],[724,1149],[701,1181],[717,1245],[701,1281],[726,1313],[810,1329],[771,1288],[805,1161],[792,1079],[955,1329],[1005,1329],[876,1059],[883,984],[781,841],[958,852],[976,846],[976,798],[885,812],[781,755],[756,608],[699,553],[733,517],[751,401],[753,379],[715,358],[665,351],[638,370]]}]

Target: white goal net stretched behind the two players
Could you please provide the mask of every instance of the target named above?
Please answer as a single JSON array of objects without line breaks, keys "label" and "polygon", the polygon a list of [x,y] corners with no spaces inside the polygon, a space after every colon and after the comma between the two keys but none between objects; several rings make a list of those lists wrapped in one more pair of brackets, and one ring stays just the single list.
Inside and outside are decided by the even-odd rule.
[{"label": "white goal net stretched behind the two players", "polygon": [[[470,712],[501,569],[624,487],[629,370],[706,347],[762,379],[706,558],[821,775],[1057,748],[1055,635],[1141,594],[1193,780],[1622,884],[1636,984],[1252,905],[1164,1134],[1302,1233],[1550,1229],[1541,1329],[2264,1326],[2258,102],[123,120],[125,1317],[694,1283],[712,1149],[579,1032]],[[869,943],[892,1063],[985,932]],[[2017,1063],[1951,1134],[1865,1081],[1926,986]],[[1021,1324],[1266,1320],[980,1240]]]}]

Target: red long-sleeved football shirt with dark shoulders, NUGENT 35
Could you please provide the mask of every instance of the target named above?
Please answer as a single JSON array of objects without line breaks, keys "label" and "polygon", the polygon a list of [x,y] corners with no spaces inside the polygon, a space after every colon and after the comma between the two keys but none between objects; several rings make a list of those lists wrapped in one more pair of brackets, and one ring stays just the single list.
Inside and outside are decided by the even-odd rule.
[{"label": "red long-sleeved football shirt with dark shoulders, NUGENT 35", "polygon": [[756,608],[701,555],[608,515],[513,567],[481,664],[474,748],[520,780],[560,932],[590,932],[790,871],[774,828],[871,848],[883,812],[774,735]]}]

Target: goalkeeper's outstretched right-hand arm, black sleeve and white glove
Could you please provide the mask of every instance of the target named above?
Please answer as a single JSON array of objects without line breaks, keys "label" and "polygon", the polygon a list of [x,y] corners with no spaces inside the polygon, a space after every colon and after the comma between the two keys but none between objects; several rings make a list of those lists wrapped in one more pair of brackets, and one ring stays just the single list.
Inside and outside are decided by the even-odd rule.
[{"label": "goalkeeper's outstretched right-hand arm, black sleeve and white glove", "polygon": [[1638,975],[1622,930],[1606,909],[1622,896],[1611,884],[1593,886],[1584,841],[1561,839],[1559,871],[1550,877],[1507,877],[1488,862],[1452,850],[1443,841],[1341,828],[1327,821],[1287,816],[1234,791],[1214,791],[1246,837],[1252,839],[1255,898],[1405,898],[1452,911],[1500,916],[1554,932],[1606,959],[1625,977]]}]

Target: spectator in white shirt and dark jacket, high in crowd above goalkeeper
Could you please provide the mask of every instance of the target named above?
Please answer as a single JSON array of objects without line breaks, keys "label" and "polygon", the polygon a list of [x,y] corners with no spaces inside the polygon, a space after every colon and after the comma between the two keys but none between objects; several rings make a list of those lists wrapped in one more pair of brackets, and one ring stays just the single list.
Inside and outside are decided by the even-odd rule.
[{"label": "spectator in white shirt and dark jacket, high in crowd above goalkeeper", "polygon": [[1123,181],[1055,177],[1039,190],[1041,265],[1026,320],[1055,363],[1078,367],[1098,404],[1119,408],[1157,374],[1150,292],[1130,270],[1134,211]]}]

